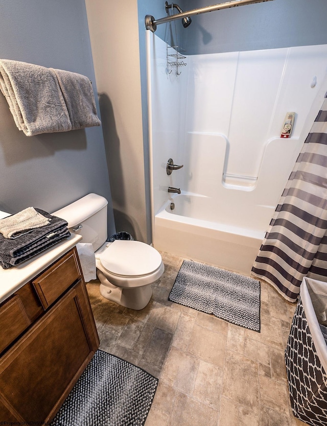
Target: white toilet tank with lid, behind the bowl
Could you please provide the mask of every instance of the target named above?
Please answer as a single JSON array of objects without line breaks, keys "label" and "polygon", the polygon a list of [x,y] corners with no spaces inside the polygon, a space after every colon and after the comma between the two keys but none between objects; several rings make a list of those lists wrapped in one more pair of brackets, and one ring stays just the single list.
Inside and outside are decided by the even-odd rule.
[{"label": "white toilet tank with lid, behind the bowl", "polygon": [[69,231],[82,235],[82,243],[91,243],[96,251],[107,240],[107,204],[101,195],[88,194],[53,215],[66,220]]}]

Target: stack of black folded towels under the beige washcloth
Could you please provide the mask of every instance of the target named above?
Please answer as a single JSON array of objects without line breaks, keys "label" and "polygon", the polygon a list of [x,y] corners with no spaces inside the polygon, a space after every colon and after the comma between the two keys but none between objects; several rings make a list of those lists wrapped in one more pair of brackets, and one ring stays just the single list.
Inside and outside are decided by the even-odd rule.
[{"label": "stack of black folded towels under the beige washcloth", "polygon": [[35,210],[46,218],[51,219],[50,224],[32,229],[15,240],[9,240],[0,234],[0,265],[4,269],[29,260],[31,257],[68,238],[71,234],[64,219],[52,216],[39,208]]}]

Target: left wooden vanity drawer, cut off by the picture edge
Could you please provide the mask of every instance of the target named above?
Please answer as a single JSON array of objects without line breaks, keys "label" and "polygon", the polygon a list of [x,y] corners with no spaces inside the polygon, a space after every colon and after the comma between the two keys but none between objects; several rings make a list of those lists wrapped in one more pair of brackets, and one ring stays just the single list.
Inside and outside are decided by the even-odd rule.
[{"label": "left wooden vanity drawer, cut off by the picture edge", "polygon": [[0,352],[31,324],[19,296],[14,296],[0,308]]}]

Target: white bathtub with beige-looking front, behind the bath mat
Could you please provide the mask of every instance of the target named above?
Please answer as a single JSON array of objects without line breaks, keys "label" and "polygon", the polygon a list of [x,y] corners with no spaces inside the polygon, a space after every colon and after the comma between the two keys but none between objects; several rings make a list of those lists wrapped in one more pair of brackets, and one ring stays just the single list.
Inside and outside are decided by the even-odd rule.
[{"label": "white bathtub with beige-looking front, behind the bath mat", "polygon": [[[173,196],[154,217],[153,245],[160,251],[250,275],[265,236],[265,229],[255,229],[255,218],[262,217],[263,208],[255,206],[246,214],[241,208],[217,206],[211,197]],[[272,212],[266,211],[265,216],[271,217]]]}]

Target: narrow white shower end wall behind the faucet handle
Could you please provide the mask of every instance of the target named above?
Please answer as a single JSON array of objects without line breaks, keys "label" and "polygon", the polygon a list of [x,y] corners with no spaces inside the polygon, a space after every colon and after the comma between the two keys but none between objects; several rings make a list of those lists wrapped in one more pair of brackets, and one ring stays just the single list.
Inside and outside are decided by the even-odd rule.
[{"label": "narrow white shower end wall behind the faucet handle", "polygon": [[168,199],[168,186],[182,184],[182,172],[168,176],[166,166],[169,158],[175,164],[183,161],[188,73],[185,67],[179,76],[174,69],[168,73],[166,43],[150,31],[147,31],[147,46],[152,204],[156,214]]}]

